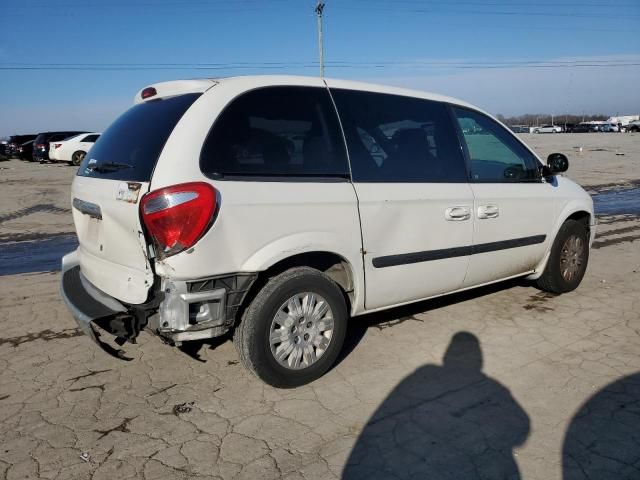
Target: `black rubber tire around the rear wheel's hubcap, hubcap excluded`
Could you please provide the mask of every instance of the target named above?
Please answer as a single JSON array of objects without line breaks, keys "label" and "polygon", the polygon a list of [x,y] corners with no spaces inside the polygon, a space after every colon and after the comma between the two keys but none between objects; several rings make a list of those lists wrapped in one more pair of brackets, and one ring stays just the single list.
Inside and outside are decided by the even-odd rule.
[{"label": "black rubber tire around the rear wheel's hubcap, hubcap excluded", "polygon": [[[310,366],[286,368],[271,352],[271,324],[281,306],[292,296],[311,292],[322,296],[333,316],[333,332],[324,353]],[[325,274],[309,267],[287,270],[271,279],[251,300],[233,334],[243,365],[265,383],[293,388],[321,377],[335,363],[347,330],[347,305],[340,287]]]}]

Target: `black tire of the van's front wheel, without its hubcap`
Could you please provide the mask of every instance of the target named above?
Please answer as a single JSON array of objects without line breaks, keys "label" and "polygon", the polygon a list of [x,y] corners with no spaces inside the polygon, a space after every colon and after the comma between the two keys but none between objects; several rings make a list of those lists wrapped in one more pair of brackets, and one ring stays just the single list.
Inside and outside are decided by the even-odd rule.
[{"label": "black tire of the van's front wheel, without its hubcap", "polygon": [[[567,278],[566,275],[563,275],[563,265],[567,261],[574,262],[574,260],[563,259],[563,252],[568,251],[567,242],[572,238],[580,240],[582,253],[578,256],[579,258],[575,257],[575,263],[579,262],[576,271]],[[562,224],[553,241],[547,266],[542,276],[537,280],[538,287],[551,293],[566,293],[575,290],[584,277],[588,262],[589,232],[582,223],[575,220],[567,220]]]}]

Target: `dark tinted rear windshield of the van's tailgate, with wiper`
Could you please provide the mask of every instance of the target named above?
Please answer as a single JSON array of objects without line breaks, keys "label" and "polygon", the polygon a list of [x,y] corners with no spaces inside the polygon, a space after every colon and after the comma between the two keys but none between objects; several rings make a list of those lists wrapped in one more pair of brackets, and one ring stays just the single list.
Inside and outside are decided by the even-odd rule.
[{"label": "dark tinted rear windshield of the van's tailgate, with wiper", "polygon": [[130,108],[91,147],[78,175],[148,182],[167,138],[200,95],[151,100]]}]

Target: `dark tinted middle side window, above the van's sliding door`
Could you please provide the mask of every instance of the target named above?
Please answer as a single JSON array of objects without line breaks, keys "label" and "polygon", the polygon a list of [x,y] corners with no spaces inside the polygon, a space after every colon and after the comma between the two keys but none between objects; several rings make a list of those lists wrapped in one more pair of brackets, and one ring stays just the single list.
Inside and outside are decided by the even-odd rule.
[{"label": "dark tinted middle side window, above the van's sliding door", "polygon": [[331,90],[355,182],[466,182],[464,157],[445,104]]}]

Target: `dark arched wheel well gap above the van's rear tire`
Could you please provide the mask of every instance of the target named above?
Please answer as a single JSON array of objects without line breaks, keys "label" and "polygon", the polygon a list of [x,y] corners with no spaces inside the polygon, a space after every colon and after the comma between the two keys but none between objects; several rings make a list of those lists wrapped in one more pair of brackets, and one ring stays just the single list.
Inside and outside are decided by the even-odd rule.
[{"label": "dark arched wheel well gap above the van's rear tire", "polygon": [[323,272],[338,284],[347,302],[347,311],[351,311],[353,302],[354,277],[351,264],[343,257],[332,252],[305,252],[292,255],[275,263],[267,270],[258,273],[258,278],[253,283],[247,296],[238,311],[235,323],[239,322],[246,307],[251,303],[258,292],[266,285],[270,278],[295,267],[310,267]]}]

